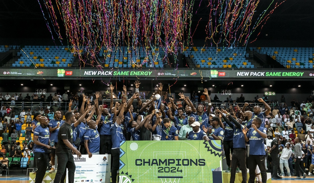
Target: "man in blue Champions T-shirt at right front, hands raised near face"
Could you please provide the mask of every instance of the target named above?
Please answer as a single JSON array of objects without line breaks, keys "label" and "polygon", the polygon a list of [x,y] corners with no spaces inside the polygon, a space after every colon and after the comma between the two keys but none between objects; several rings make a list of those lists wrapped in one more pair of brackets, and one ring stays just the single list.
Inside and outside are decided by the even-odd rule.
[{"label": "man in blue Champions T-shirt at right front, hands raised near face", "polygon": [[259,117],[255,117],[252,121],[252,128],[247,132],[246,129],[242,129],[246,142],[250,142],[250,154],[249,154],[249,172],[250,182],[255,182],[255,169],[258,166],[262,175],[262,182],[266,183],[267,173],[265,168],[265,147],[264,140],[267,138],[266,129],[261,127],[262,120]]}]

